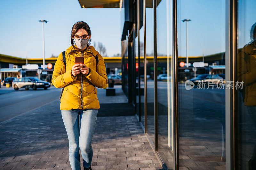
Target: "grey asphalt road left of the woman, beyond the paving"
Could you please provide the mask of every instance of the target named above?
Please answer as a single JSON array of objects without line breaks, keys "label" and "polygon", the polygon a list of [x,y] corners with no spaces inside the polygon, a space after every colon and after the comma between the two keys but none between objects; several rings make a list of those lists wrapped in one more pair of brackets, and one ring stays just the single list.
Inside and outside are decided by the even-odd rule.
[{"label": "grey asphalt road left of the woman, beyond the paving", "polygon": [[[12,87],[0,88],[0,122],[23,114],[36,107],[60,98],[61,88],[51,86],[47,90],[19,89],[14,91]],[[45,108],[47,109],[47,108]]]}]

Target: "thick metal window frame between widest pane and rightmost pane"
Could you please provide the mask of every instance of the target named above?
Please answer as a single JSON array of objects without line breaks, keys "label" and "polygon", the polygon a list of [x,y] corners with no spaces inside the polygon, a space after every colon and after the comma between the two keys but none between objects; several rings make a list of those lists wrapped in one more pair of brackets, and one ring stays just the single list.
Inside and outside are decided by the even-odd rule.
[{"label": "thick metal window frame between widest pane and rightmost pane", "polygon": [[[237,1],[226,0],[226,81],[235,81],[237,54]],[[225,89],[226,169],[238,168],[237,90]]]}]

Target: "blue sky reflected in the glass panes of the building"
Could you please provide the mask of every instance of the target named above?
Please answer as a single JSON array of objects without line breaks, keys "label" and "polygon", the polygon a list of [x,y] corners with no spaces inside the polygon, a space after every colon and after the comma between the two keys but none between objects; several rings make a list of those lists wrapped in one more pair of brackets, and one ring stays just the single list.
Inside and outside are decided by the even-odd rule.
[{"label": "blue sky reflected in the glass panes of the building", "polygon": [[[179,0],[178,1],[178,39],[179,55],[186,56],[186,24],[182,19],[191,19],[188,22],[188,56],[211,55],[225,51],[225,0]],[[167,54],[166,35],[166,7],[170,0],[162,0],[156,9],[157,20],[157,53]],[[238,48],[249,43],[251,26],[256,22],[256,0],[246,0],[239,4],[239,32]],[[172,11],[169,11],[170,26],[172,31]],[[153,9],[146,9],[147,53],[153,51]],[[243,25],[243,27],[240,27]],[[170,32],[170,40],[172,32]],[[142,40],[140,40],[142,41]],[[172,41],[171,41],[172,42]],[[170,42],[170,43],[171,43]],[[172,44],[169,47],[172,53]],[[170,54],[171,54],[170,53]]]}]

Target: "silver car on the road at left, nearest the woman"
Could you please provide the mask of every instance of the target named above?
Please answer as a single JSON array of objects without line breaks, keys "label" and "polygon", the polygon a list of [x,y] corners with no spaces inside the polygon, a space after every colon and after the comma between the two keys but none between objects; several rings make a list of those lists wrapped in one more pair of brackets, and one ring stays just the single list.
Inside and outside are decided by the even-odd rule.
[{"label": "silver car on the road at left, nearest the woman", "polygon": [[44,90],[47,90],[50,86],[51,83],[40,80],[37,77],[22,77],[17,78],[12,82],[14,90],[19,90],[19,88],[25,88],[26,90],[29,88],[32,88],[33,90],[36,90],[37,88],[44,88]]}]

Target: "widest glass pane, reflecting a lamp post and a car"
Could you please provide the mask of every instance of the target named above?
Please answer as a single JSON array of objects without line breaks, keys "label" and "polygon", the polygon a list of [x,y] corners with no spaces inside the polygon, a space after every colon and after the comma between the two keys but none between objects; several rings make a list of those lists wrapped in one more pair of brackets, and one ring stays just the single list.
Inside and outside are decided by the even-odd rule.
[{"label": "widest glass pane, reflecting a lamp post and a car", "polygon": [[226,169],[225,2],[178,0],[180,168]]}]

